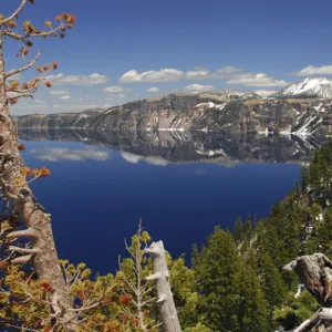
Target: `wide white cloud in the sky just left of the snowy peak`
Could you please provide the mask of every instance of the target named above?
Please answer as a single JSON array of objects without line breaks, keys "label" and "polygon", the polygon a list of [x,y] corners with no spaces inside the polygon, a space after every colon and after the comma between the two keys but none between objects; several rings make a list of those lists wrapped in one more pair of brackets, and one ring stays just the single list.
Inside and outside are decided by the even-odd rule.
[{"label": "wide white cloud in the sky just left of the snowy peak", "polygon": [[226,82],[227,84],[243,84],[247,86],[286,86],[289,82],[284,80],[276,80],[264,73],[243,73],[235,75]]}]

